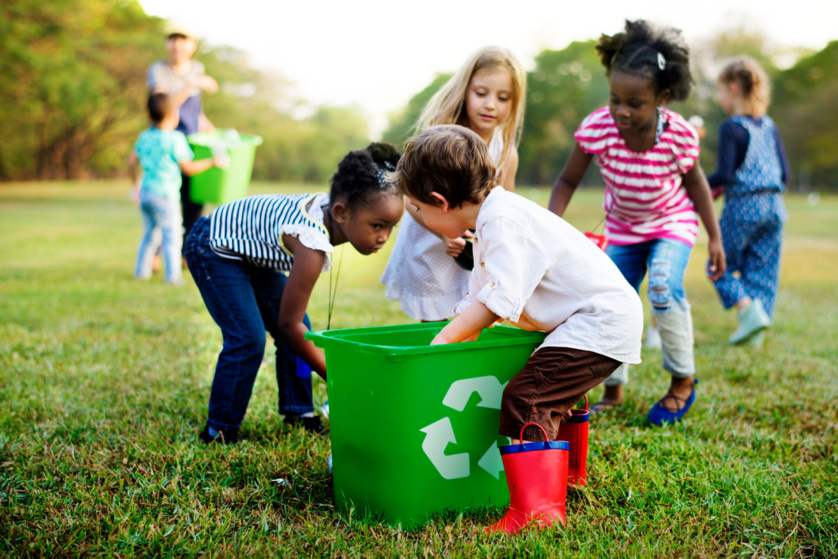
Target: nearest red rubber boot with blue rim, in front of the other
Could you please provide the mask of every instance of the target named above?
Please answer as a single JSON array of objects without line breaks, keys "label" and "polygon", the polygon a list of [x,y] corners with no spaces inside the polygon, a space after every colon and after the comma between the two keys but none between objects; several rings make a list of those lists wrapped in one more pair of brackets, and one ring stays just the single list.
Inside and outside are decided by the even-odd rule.
[{"label": "nearest red rubber boot with blue rim, in front of the other", "polygon": [[510,486],[510,508],[503,518],[485,528],[487,534],[517,534],[525,526],[541,529],[556,522],[566,524],[568,444],[547,441],[547,433],[538,423],[526,423],[521,428],[522,438],[528,425],[541,428],[545,442],[500,447],[506,483]]}]

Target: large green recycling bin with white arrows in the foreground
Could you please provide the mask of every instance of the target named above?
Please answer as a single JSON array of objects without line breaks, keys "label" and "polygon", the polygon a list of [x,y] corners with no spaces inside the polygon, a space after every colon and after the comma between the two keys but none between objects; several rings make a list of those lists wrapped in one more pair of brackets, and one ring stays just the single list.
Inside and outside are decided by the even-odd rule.
[{"label": "large green recycling bin with white arrows in the foreground", "polygon": [[544,332],[487,328],[429,346],[445,322],[313,331],[328,371],[334,495],[391,525],[508,505],[500,397]]}]

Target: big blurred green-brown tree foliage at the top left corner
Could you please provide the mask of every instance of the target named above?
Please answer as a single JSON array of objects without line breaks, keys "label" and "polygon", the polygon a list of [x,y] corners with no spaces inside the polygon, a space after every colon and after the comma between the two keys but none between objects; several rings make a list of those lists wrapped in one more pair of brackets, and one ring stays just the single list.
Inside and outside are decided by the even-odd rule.
[{"label": "big blurred green-brown tree foliage at the top left corner", "polygon": [[[0,18],[0,178],[124,166],[163,23],[137,2],[9,0]],[[145,54],[145,55],[144,55]]]}]

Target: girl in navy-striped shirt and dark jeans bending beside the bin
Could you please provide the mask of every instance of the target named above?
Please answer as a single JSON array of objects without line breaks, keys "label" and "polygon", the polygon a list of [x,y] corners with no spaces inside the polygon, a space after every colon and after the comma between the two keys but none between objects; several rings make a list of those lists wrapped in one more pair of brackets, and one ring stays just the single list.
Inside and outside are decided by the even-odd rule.
[{"label": "girl in navy-striped shirt and dark jeans bending beside the bin", "polygon": [[306,307],[334,246],[349,242],[372,254],[401,218],[401,192],[387,181],[399,153],[388,144],[350,151],[328,194],[268,194],[236,200],[195,223],[186,261],[224,346],[215,366],[204,443],[235,443],[256,372],[265,331],[277,347],[279,413],[285,422],[323,433],[314,416],[312,381],[297,374],[297,356],[326,378],[323,351],[303,336]]}]

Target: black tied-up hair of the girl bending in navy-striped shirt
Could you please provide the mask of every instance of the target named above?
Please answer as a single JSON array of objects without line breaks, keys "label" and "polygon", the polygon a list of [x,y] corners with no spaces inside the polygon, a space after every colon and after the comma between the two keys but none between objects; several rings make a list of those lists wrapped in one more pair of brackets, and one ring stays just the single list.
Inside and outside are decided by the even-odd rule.
[{"label": "black tied-up hair of the girl bending in navy-striped shirt", "polygon": [[385,193],[401,196],[396,183],[385,178],[388,172],[396,170],[400,157],[394,146],[384,142],[349,151],[332,176],[332,203],[343,202],[352,211],[374,204]]}]

